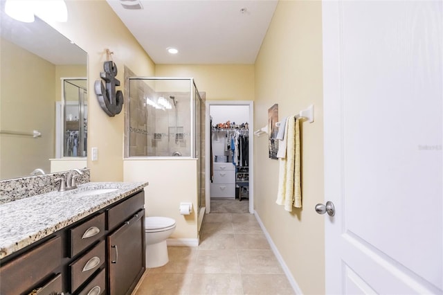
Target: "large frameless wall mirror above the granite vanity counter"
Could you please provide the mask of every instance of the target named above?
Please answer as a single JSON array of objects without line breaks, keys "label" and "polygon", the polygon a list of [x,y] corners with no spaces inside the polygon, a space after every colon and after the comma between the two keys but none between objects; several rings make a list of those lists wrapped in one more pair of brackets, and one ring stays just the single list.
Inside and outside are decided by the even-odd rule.
[{"label": "large frameless wall mirror above the granite vanity counter", "polygon": [[0,179],[30,176],[35,169],[66,170],[51,171],[50,161],[64,146],[62,83],[87,77],[87,53],[37,17],[33,23],[10,18],[4,4],[1,0]]}]

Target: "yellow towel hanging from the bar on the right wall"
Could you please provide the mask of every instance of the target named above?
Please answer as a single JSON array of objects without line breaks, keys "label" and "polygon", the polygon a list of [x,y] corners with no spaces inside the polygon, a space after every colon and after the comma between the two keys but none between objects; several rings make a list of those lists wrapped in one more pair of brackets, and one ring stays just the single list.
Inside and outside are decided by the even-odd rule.
[{"label": "yellow towel hanging from the bar on the right wall", "polygon": [[287,138],[286,157],[279,158],[278,193],[275,203],[284,205],[291,212],[292,207],[301,208],[300,188],[300,125],[294,116],[287,119],[284,130]]}]

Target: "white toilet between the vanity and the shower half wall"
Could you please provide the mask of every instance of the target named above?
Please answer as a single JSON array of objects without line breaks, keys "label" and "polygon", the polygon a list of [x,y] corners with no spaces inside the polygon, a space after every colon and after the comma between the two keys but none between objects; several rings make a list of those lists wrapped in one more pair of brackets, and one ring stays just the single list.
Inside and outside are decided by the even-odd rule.
[{"label": "white toilet between the vanity and the shower half wall", "polygon": [[161,267],[168,263],[166,239],[174,232],[175,220],[169,217],[146,217],[146,267]]}]

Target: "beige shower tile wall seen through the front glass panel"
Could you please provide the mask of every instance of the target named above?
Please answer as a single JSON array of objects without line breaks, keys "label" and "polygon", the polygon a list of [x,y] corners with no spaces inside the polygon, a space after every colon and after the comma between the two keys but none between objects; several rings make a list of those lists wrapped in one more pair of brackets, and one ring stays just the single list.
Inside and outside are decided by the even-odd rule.
[{"label": "beige shower tile wall seen through the front glass panel", "polygon": [[[190,93],[156,92],[148,85],[152,80],[129,82],[131,76],[134,76],[134,73],[125,67],[125,126],[127,127],[125,157],[171,157],[174,152],[189,157],[191,155]],[[167,99],[174,96],[177,105],[169,110],[147,107],[145,100],[147,97],[156,99],[160,96]],[[172,100],[170,102],[172,103]],[[128,106],[129,114],[127,114]]]}]

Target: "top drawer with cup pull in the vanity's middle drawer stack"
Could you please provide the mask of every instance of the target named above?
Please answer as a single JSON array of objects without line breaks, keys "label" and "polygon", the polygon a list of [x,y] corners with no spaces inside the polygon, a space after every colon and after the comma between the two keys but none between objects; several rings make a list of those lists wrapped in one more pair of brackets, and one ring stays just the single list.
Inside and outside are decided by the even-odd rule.
[{"label": "top drawer with cup pull in the vanity's middle drawer stack", "polygon": [[69,230],[71,238],[71,252],[69,257],[74,257],[88,247],[105,233],[105,213],[93,217],[91,220],[75,226]]}]

